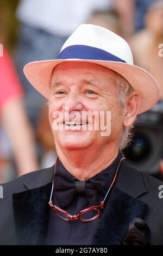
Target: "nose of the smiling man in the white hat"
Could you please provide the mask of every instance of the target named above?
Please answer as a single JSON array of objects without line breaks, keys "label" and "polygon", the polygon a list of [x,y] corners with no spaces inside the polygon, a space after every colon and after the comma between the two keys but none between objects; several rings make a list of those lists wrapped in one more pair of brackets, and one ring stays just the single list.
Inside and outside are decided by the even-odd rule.
[{"label": "nose of the smiling man in the white hat", "polygon": [[62,109],[68,111],[69,113],[71,113],[72,111],[82,111],[83,104],[80,101],[79,96],[77,94],[69,94],[66,97]]}]

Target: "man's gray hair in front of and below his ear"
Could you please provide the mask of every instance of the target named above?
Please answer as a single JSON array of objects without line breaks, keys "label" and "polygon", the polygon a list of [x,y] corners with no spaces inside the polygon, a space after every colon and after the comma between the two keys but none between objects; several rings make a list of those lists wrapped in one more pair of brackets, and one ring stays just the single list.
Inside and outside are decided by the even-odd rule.
[{"label": "man's gray hair in front of and below his ear", "polygon": [[[131,92],[133,92],[133,88],[130,86],[129,82],[117,72],[115,72],[115,81],[119,91],[118,103],[120,104],[120,107],[124,107],[128,96],[130,95]],[[134,124],[132,124],[129,127],[123,126],[119,150],[126,148],[130,144],[131,137],[133,136],[133,126]]]}]

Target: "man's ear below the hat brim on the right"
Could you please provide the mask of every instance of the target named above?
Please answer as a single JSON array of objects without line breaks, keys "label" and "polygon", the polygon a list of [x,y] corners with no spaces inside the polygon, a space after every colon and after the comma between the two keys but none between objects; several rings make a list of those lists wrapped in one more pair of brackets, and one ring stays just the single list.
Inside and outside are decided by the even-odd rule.
[{"label": "man's ear below the hat brim on the right", "polygon": [[123,126],[129,127],[134,123],[137,112],[140,106],[140,95],[136,92],[132,92],[126,102],[126,108],[124,112]]}]

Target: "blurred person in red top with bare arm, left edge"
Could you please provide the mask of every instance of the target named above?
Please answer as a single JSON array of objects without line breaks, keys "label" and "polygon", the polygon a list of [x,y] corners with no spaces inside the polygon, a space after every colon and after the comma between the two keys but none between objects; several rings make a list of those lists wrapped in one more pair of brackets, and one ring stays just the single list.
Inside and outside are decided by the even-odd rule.
[{"label": "blurred person in red top with bare arm, left edge", "polygon": [[[23,89],[10,55],[14,22],[9,1],[1,1],[0,12],[0,42],[3,45],[0,57],[0,124],[9,137],[17,174],[23,175],[35,170],[39,165],[36,159],[33,130],[23,107]],[[2,159],[1,147],[2,143],[0,143]],[[3,163],[2,159],[1,180]]]}]

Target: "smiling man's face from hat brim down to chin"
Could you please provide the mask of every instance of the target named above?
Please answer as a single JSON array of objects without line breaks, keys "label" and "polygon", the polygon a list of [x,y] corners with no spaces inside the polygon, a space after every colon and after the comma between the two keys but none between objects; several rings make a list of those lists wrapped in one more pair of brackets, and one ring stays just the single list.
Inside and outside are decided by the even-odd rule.
[{"label": "smiling man's face from hat brim down to chin", "polygon": [[[104,150],[109,144],[118,147],[123,118],[112,70],[94,63],[65,62],[55,68],[51,84],[49,123],[56,147],[67,150],[93,148],[95,151]],[[111,134],[102,136],[101,117],[105,125],[110,125],[110,122],[106,124],[107,111],[111,112]],[[98,114],[92,115],[92,119],[90,114],[89,117],[85,115],[95,112]],[[59,125],[64,129],[54,130],[56,113],[62,113],[64,119],[60,119]],[[79,124],[72,125],[72,121]],[[88,129],[89,123],[91,130]]]}]

